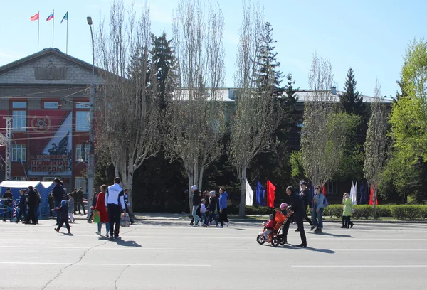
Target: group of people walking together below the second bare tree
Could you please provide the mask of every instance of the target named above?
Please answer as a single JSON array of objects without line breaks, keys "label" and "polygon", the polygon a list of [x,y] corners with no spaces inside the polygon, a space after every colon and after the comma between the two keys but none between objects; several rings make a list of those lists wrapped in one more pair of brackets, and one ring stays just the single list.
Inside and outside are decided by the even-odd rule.
[{"label": "group of people walking together below the second bare tree", "polygon": [[[230,223],[227,213],[228,193],[225,188],[219,188],[219,195],[214,190],[201,193],[196,185],[191,186],[191,191],[193,193],[191,226],[198,227],[200,224],[203,227],[210,225],[220,228],[224,225],[228,227]],[[206,200],[208,200],[207,205]]]}]

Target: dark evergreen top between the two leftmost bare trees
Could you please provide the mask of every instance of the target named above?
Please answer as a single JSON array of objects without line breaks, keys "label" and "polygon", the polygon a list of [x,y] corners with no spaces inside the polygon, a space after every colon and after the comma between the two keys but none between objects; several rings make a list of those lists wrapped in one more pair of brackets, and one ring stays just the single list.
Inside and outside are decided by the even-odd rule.
[{"label": "dark evergreen top between the two leftmost bare trees", "polygon": [[157,95],[161,109],[167,107],[172,99],[172,91],[175,85],[174,69],[176,61],[174,50],[171,46],[172,40],[167,40],[166,33],[162,36],[152,34],[152,63],[157,76]]}]

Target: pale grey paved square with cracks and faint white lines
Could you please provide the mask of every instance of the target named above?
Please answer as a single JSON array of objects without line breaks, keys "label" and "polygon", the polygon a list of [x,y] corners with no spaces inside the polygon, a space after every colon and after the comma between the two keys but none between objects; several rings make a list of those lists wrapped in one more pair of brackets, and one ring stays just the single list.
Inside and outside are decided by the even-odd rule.
[{"label": "pale grey paved square with cracks and faint white lines", "polygon": [[[85,220],[72,236],[41,225],[0,223],[0,289],[427,289],[427,225],[325,223],[307,249],[258,245],[260,222],[190,227],[142,221],[122,240]],[[105,227],[102,228],[105,234]],[[295,226],[288,242],[300,243]]]}]

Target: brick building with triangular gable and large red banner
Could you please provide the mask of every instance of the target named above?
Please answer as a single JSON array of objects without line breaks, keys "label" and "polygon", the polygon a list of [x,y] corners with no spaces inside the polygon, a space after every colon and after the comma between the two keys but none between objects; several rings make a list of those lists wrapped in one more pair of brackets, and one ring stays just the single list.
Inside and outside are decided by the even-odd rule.
[{"label": "brick building with triangular gable and large red banner", "polygon": [[[92,65],[54,48],[0,67],[0,133],[12,119],[11,180],[82,186]],[[95,73],[95,84],[101,78]],[[0,147],[4,159],[5,147]],[[1,161],[0,180],[4,179]],[[86,188],[85,188],[86,189]]]}]

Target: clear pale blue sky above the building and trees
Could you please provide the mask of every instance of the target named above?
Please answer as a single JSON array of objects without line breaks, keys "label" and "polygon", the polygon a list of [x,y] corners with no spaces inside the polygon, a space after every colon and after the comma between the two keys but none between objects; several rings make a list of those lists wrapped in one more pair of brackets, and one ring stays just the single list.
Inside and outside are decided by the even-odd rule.
[{"label": "clear pale blue sky above the building and trees", "polygon": [[[152,32],[172,37],[172,12],[177,0],[147,0]],[[203,0],[202,0],[203,1]],[[136,1],[137,2],[137,1]],[[225,87],[233,87],[236,44],[241,24],[241,0],[218,0],[225,18]],[[126,4],[132,1],[125,0]],[[137,2],[138,3],[138,2]],[[52,22],[46,18],[55,9],[54,46],[65,52],[65,21],[68,13],[68,54],[91,61],[90,30],[101,17],[107,18],[110,0],[15,0],[2,1],[0,9],[0,65],[37,51],[37,21],[29,18],[40,11],[40,48],[52,46]],[[349,67],[354,69],[357,90],[373,95],[376,78],[383,95],[394,95],[406,47],[414,38],[426,36],[427,1],[323,0],[263,1],[265,21],[273,25],[275,48],[284,74],[291,72],[297,87],[308,87],[312,53],[329,58],[334,80],[342,89]]]}]

